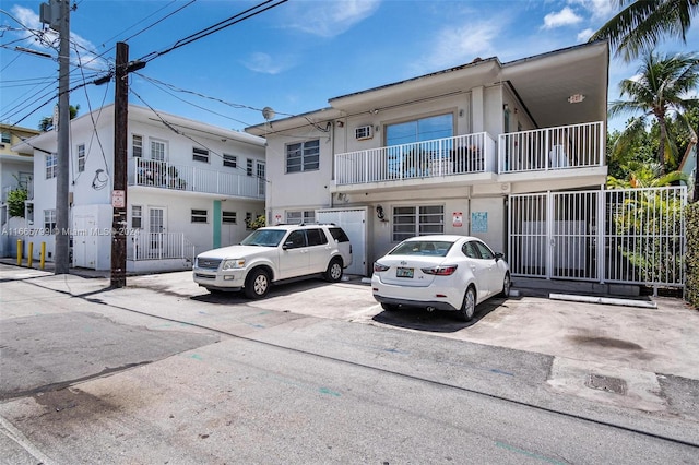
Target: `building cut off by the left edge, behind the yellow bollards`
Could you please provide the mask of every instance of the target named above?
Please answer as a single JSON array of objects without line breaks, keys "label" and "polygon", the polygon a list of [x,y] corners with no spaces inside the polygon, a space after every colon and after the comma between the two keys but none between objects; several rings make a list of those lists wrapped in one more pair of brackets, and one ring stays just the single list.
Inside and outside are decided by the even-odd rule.
[{"label": "building cut off by the left edge, behind the yellow bollards", "polygon": [[25,139],[39,134],[40,131],[0,124],[0,257],[16,253],[15,230],[23,225],[21,217],[12,217],[8,205],[8,196],[17,189],[33,190],[34,159],[31,154],[22,154],[12,147]]}]

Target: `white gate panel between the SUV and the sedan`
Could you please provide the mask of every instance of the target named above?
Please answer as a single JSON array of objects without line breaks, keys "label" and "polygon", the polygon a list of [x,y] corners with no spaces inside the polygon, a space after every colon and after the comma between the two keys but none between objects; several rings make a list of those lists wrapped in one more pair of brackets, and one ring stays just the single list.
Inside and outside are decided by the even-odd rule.
[{"label": "white gate panel between the SUV and the sedan", "polygon": [[317,210],[320,223],[334,223],[342,227],[352,242],[352,265],[345,273],[367,275],[367,208]]}]

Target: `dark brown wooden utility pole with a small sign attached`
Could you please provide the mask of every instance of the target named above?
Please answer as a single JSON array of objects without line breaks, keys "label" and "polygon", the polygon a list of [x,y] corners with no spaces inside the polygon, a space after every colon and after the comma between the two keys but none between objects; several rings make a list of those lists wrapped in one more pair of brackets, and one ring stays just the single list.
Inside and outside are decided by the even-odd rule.
[{"label": "dark brown wooden utility pole with a small sign attached", "polygon": [[111,287],[127,285],[127,144],[129,46],[117,43],[114,99],[114,184],[111,191]]}]

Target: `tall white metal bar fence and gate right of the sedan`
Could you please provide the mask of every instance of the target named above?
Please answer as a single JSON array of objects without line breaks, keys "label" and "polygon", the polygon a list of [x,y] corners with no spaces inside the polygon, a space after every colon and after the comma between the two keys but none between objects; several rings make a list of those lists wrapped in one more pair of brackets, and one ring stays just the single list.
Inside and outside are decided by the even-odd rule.
[{"label": "tall white metal bar fence and gate right of the sedan", "polygon": [[512,275],[684,286],[685,187],[510,195]]}]

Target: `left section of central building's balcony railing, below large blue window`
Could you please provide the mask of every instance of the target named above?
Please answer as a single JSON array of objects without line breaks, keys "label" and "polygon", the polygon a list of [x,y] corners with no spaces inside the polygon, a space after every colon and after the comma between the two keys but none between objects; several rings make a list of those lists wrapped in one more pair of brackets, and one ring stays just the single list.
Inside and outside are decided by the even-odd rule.
[{"label": "left section of central building's balcony railing, below large blue window", "polygon": [[335,155],[337,186],[495,171],[485,132]]}]

